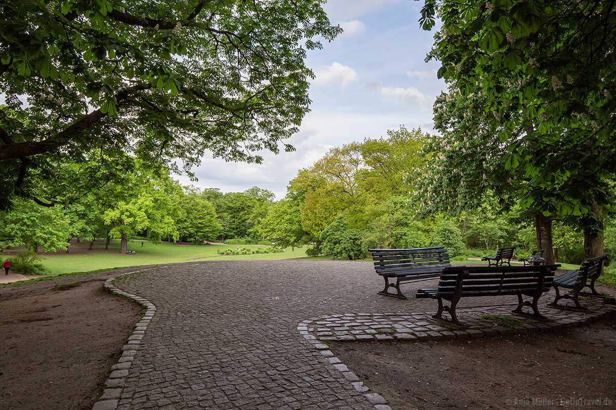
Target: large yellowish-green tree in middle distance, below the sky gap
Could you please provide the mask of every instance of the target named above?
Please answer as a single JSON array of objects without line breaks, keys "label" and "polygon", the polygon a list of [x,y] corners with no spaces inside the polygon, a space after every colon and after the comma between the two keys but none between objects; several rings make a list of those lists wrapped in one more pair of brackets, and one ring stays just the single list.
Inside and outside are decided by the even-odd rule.
[{"label": "large yellowish-green tree in middle distance, below the sky gap", "polygon": [[375,205],[394,195],[408,195],[406,183],[425,158],[421,130],[387,131],[387,138],[332,148],[315,164],[301,170],[288,188],[301,197],[302,227],[318,239],[336,215],[344,213],[351,227],[363,230],[376,218]]}]

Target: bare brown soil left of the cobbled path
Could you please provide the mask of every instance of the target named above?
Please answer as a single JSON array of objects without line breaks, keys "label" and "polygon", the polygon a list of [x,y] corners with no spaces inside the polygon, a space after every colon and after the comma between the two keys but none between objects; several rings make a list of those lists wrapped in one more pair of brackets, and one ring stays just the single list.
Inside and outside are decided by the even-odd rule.
[{"label": "bare brown soil left of the cobbled path", "polygon": [[140,317],[102,287],[126,270],[0,288],[0,409],[91,408]]}]

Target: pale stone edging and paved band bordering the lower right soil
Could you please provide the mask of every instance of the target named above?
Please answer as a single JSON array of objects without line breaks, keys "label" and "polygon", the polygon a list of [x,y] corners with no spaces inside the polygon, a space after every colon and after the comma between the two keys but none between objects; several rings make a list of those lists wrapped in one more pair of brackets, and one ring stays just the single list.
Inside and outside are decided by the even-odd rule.
[{"label": "pale stone edging and paved band bordering the lower right soil", "polygon": [[[557,321],[554,322],[546,322],[546,323],[533,323],[532,325],[527,323],[522,323],[521,325],[515,326],[514,328],[508,328],[506,326],[493,326],[484,328],[477,328],[477,326],[472,326],[473,328],[468,328],[466,330],[453,330],[450,331],[442,326],[431,324],[429,321],[429,317],[431,315],[425,312],[416,312],[416,313],[345,313],[338,315],[322,315],[320,317],[309,318],[307,320],[303,320],[298,325],[298,332],[301,334],[304,339],[309,342],[314,349],[317,349],[318,352],[327,359],[330,366],[333,366],[334,369],[338,370],[342,373],[344,379],[351,382],[352,386],[359,393],[365,393],[363,396],[375,406],[375,410],[392,410],[392,408],[387,405],[387,400],[383,398],[383,396],[378,393],[367,393],[370,388],[368,388],[357,376],[357,374],[353,373],[351,369],[349,369],[342,361],[335,357],[334,353],[331,352],[330,347],[323,342],[325,341],[381,341],[381,340],[406,340],[406,341],[427,341],[427,340],[444,340],[444,339],[466,339],[469,337],[480,337],[480,336],[496,336],[500,334],[501,336],[509,336],[513,334],[524,334],[529,333],[531,331],[546,331],[548,329],[564,329],[564,328],[572,328],[582,325],[588,325],[594,320],[597,320],[602,317],[606,317],[609,314],[616,313],[616,305],[610,306],[611,300],[606,299],[608,304],[595,304],[591,303],[596,310],[590,310],[586,312],[579,311],[567,311],[562,310],[563,315],[569,315],[569,318],[558,318]],[[506,308],[505,308],[506,309]],[[498,312],[501,313],[501,312]],[[509,313],[510,314],[510,313]],[[375,317],[378,317],[375,318]],[[387,320],[386,318],[389,318]],[[394,320],[391,320],[394,319]],[[378,321],[375,321],[378,320]],[[410,323],[410,320],[415,320],[416,324],[419,327],[415,327],[414,329],[409,325],[408,327],[400,325],[400,323]],[[336,323],[336,322],[346,322],[346,323]],[[403,329],[400,333],[395,333],[392,335],[385,334],[354,334],[354,336],[349,336],[349,334],[341,334],[341,335],[333,335],[333,336],[321,336],[319,337],[318,331],[315,331],[314,328],[309,328],[310,325],[316,324],[317,326],[331,326],[333,328],[347,328],[346,330],[341,330],[339,333],[347,333],[348,331],[353,331],[353,328],[362,327],[368,329],[378,329],[378,323],[383,322],[391,322],[392,325],[384,325],[389,329],[394,329],[396,332]],[[431,320],[433,323],[434,320]],[[329,322],[329,323],[328,323]],[[375,323],[375,325],[367,325],[362,326],[363,323]],[[353,325],[353,326],[351,326]],[[371,327],[374,326],[374,327]],[[399,326],[399,327],[393,327]],[[425,326],[425,327],[424,327]],[[417,329],[417,330],[416,330]],[[314,334],[313,334],[314,333]],[[359,333],[359,331],[358,331]],[[322,332],[325,334],[325,332]],[[379,337],[381,336],[381,337]]]}]

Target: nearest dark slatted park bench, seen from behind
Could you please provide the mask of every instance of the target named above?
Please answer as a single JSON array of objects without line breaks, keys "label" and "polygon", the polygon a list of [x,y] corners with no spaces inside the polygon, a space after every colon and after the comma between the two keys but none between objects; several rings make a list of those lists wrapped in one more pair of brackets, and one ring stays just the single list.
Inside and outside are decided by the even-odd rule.
[{"label": "nearest dark slatted park bench, seen from behind", "polygon": [[[529,306],[533,316],[543,318],[537,309],[537,302],[544,292],[549,291],[556,268],[560,265],[542,266],[453,266],[447,267],[440,275],[437,288],[419,289],[416,298],[432,298],[439,301],[439,310],[434,318],[443,319],[445,310],[452,317],[452,323],[460,325],[456,317],[456,306],[461,298],[517,295],[514,313],[525,314],[522,307]],[[531,296],[524,301],[522,296]],[[443,306],[443,299],[450,306]]]}]

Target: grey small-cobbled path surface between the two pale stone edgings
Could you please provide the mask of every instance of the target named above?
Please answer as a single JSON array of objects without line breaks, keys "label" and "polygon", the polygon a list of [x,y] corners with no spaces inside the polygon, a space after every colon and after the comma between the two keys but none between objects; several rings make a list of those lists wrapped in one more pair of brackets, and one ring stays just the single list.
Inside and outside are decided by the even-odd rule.
[{"label": "grey small-cobbled path surface between the two pale stone edgings", "polygon": [[[205,262],[128,275],[116,285],[156,305],[118,409],[375,409],[298,323],[319,315],[425,312],[435,303],[376,294],[365,262]],[[550,298],[545,296],[544,298]],[[469,298],[466,306],[514,303]],[[542,299],[543,300],[543,299]],[[547,300],[547,299],[546,299]]]}]

